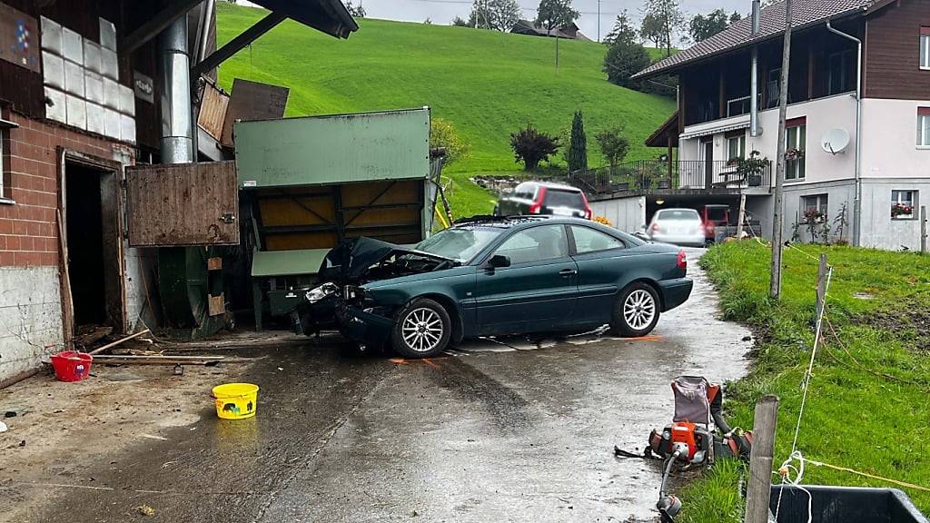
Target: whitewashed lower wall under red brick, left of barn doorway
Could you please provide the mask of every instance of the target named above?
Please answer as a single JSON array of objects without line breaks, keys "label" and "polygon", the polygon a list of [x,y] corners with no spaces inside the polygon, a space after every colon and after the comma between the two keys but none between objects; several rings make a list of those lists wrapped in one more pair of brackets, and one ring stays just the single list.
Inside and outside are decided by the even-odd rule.
[{"label": "whitewashed lower wall under red brick, left of barn doorway", "polygon": [[58,267],[0,267],[0,382],[63,343]]}]

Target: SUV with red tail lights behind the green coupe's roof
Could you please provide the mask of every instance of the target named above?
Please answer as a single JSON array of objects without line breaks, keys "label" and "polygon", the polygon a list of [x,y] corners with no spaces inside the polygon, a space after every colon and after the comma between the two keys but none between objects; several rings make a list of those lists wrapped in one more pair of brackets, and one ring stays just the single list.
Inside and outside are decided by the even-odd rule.
[{"label": "SUV with red tail lights behind the green coupe's roof", "polygon": [[551,214],[591,220],[591,206],[588,205],[588,197],[578,187],[526,181],[514,187],[511,194],[500,198],[495,214]]}]

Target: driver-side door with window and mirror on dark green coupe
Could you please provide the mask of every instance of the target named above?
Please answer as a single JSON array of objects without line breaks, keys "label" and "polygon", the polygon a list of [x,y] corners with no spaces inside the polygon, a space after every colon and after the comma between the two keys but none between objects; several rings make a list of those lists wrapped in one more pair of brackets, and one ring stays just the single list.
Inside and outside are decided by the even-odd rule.
[{"label": "driver-side door with window and mirror on dark green coupe", "polygon": [[569,256],[561,224],[519,230],[491,255],[509,267],[480,267],[476,302],[482,334],[552,330],[571,322],[578,301],[578,265]]}]

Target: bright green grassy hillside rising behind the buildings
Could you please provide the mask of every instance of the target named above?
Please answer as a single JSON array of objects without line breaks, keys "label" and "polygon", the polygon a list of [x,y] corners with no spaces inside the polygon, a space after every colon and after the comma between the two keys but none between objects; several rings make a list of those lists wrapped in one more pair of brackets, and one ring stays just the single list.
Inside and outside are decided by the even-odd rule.
[{"label": "bright green grassy hillside rising behind the buildings", "polygon": [[[218,9],[220,44],[265,14],[225,2]],[[585,116],[591,166],[603,165],[594,135],[607,127],[625,126],[633,159],[660,153],[643,141],[674,111],[674,102],[608,83],[600,44],[561,40],[556,74],[550,38],[358,21],[358,32],[337,40],[287,20],[224,63],[219,83],[228,89],[238,76],[290,87],[288,115],[429,105],[472,145],[470,157],[450,166],[452,172],[518,170],[510,133],[527,123],[558,133],[571,127],[577,109]]]}]

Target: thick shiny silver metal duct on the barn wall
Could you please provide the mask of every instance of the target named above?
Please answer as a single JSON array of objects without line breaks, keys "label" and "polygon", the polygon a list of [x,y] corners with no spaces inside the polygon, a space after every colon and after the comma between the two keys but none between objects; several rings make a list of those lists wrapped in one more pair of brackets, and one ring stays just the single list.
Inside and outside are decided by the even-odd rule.
[{"label": "thick shiny silver metal duct on the barn wall", "polygon": [[175,20],[158,35],[163,164],[194,161],[191,58],[187,46],[187,17]]}]

